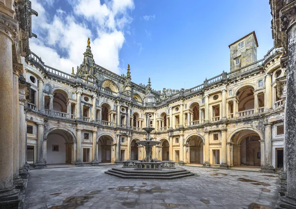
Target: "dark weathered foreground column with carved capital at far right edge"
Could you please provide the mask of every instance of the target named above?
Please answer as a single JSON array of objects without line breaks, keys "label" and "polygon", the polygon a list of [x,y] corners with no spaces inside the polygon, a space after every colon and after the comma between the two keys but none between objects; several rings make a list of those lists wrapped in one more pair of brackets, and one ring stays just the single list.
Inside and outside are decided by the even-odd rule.
[{"label": "dark weathered foreground column with carved capital at far right edge", "polygon": [[[285,108],[285,153],[287,193],[281,201],[289,208],[296,208],[296,1],[290,0],[281,9],[282,32],[288,39],[287,100]],[[286,20],[286,22],[284,22]],[[281,207],[283,207],[281,205]],[[288,207],[283,207],[288,208]]]}]

